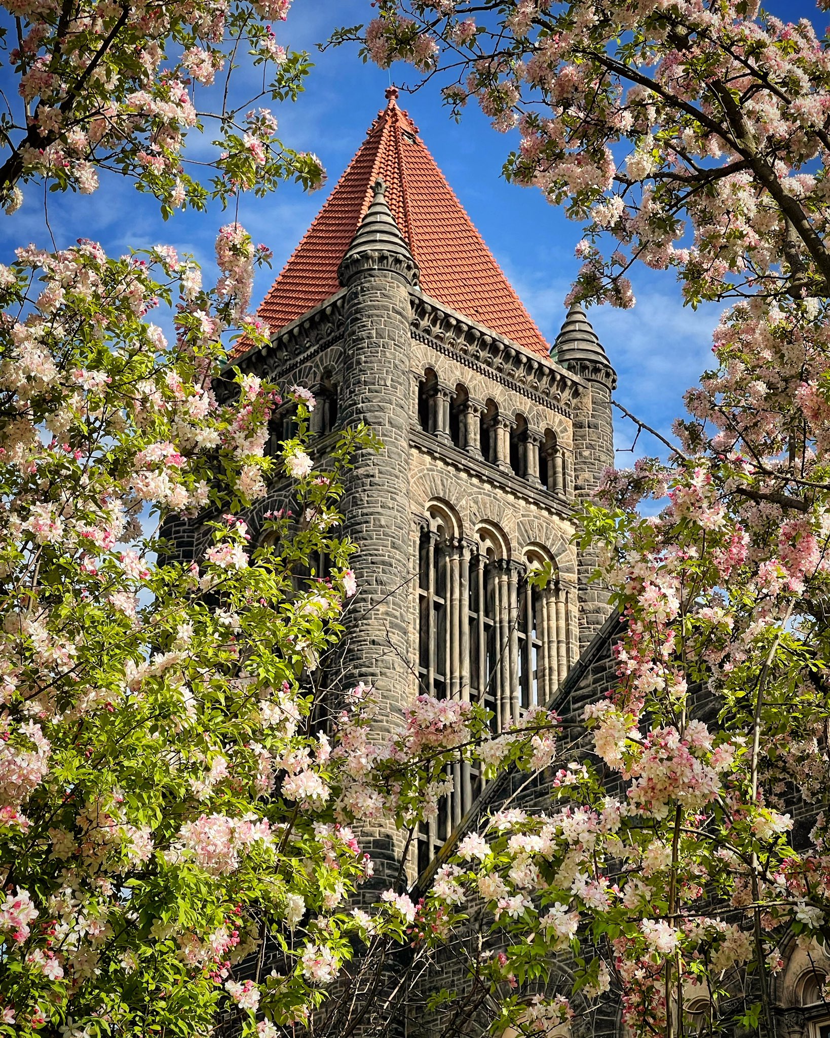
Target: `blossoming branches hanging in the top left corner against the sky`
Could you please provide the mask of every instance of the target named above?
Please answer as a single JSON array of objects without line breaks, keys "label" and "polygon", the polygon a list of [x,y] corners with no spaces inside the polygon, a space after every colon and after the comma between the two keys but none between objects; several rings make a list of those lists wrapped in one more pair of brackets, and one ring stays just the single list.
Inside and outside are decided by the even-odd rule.
[{"label": "blossoming branches hanging in the top left corner against the sky", "polygon": [[[319,186],[313,155],[285,147],[261,99],[296,99],[310,67],[277,43],[271,22],[290,0],[219,3],[4,3],[0,30],[19,98],[0,116],[0,203],[20,206],[27,183],[95,190],[99,170],[132,177],[169,216],[264,193],[286,177]],[[252,94],[229,89],[243,59]],[[259,82],[257,82],[259,80]],[[188,136],[211,134],[206,181],[189,170]]]}]

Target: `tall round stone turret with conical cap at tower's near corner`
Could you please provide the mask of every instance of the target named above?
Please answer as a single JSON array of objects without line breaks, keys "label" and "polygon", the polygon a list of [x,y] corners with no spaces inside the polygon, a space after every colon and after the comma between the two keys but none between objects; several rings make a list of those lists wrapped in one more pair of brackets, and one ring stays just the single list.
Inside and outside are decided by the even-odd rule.
[{"label": "tall round stone turret with conical cap at tower's near corner", "polygon": [[379,718],[385,727],[410,686],[410,291],[419,272],[384,192],[379,180],[338,276],[348,290],[341,420],[371,426],[384,444],[380,454],[359,452],[345,479],[344,532],[360,547],[360,593],[349,609],[343,681],[375,685],[388,705]]}]

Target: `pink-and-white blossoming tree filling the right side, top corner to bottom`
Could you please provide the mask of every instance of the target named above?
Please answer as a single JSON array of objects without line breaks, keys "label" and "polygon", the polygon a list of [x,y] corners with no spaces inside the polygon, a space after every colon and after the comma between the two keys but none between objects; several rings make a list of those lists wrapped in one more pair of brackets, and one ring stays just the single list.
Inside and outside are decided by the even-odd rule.
[{"label": "pink-and-white blossoming tree filling the right side, top corner to bottom", "polygon": [[[374,16],[334,38],[443,76],[457,113],[472,100],[518,132],[508,179],[583,223],[571,299],[632,305],[639,261],[673,270],[691,305],[730,304],[668,463],[610,471],[582,517],[628,620],[618,681],[586,711],[594,764],[566,770],[555,817],[465,841],[449,901],[488,901],[514,981],[552,950],[581,955],[577,987],[613,987],[630,1033],[773,1035],[789,943],[830,939],[826,40],[751,0],[382,0]],[[648,498],[668,503],[643,518]],[[551,1009],[522,1012],[536,1029]]]}]

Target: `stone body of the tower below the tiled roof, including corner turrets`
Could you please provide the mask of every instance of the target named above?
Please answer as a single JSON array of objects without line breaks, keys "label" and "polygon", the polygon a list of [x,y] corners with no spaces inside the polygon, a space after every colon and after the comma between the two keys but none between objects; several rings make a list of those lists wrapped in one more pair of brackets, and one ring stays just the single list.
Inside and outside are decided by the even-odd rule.
[{"label": "stone body of the tower below the tiled roof, including corner turrets", "polygon": [[[383,440],[344,477],[360,594],[337,680],[376,687],[379,734],[419,692],[482,701],[500,731],[555,695],[608,614],[572,513],[613,462],[613,370],[577,306],[554,360],[428,297],[381,181],[338,273],[339,292],[238,361],[319,394],[321,450],[334,427],[365,422]],[[251,517],[254,537],[273,507]],[[527,580],[540,566],[544,591]],[[457,772],[412,878],[480,790],[467,765]],[[389,834],[372,842],[394,857]]]}]

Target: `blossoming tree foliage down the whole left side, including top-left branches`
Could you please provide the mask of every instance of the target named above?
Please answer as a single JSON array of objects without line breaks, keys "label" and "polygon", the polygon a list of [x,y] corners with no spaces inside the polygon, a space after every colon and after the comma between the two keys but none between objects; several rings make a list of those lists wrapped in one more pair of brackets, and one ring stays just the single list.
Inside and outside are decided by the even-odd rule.
[{"label": "blossoming tree foliage down the whole left side, including top-left branches", "polygon": [[[319,184],[270,113],[239,116],[226,82],[218,107],[201,89],[247,50],[266,93],[296,95],[305,57],[265,24],[287,6],[7,6],[22,98],[2,116],[8,210],[27,184],[91,190],[100,168],[135,176],[165,215]],[[209,118],[224,152],[205,184],[183,147]],[[344,433],[316,470],[313,400],[295,387],[298,433],[266,457],[277,389],[225,371],[229,335],[268,333],[248,317],[261,258],[229,223],[213,290],[169,246],[28,246],[0,267],[1,1033],[206,1035],[233,1004],[265,1036],[308,1018],[353,943],[382,952],[410,910],[390,895],[374,917],[344,913],[371,871],[348,823],[388,810],[417,824],[442,755],[480,730],[424,702],[369,753],[360,694],[339,734],[312,721],[301,676],[356,592],[332,535],[339,472],[374,440]],[[273,517],[257,547],[241,513],[275,480],[295,482],[302,518]],[[198,558],[148,532],[196,514],[211,530]],[[315,552],[331,578],[298,582]],[[260,960],[240,979],[266,934],[279,976]]]}]

